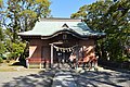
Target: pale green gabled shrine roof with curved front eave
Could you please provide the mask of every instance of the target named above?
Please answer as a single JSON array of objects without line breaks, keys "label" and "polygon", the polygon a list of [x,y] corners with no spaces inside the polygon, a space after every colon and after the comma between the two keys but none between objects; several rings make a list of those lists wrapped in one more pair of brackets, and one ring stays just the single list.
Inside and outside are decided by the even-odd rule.
[{"label": "pale green gabled shrine roof with curved front eave", "polygon": [[20,36],[52,36],[58,32],[67,30],[81,37],[105,36],[105,33],[91,30],[81,20],[76,18],[42,18],[36,23],[32,30],[18,33]]}]

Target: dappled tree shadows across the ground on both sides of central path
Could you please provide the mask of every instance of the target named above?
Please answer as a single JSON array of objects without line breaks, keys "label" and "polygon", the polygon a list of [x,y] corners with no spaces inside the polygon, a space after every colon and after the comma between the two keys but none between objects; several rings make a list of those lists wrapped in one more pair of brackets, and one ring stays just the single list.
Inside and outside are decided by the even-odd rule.
[{"label": "dappled tree shadows across the ground on both sides of central path", "polygon": [[[14,77],[13,80],[4,83],[2,87],[51,87],[53,77],[57,72],[70,72],[76,82],[77,87],[129,87],[130,75],[122,72],[106,71],[84,71],[76,73],[74,71],[49,69],[40,71],[38,74],[29,74],[26,76]],[[61,82],[63,83],[63,82]],[[65,83],[63,83],[65,84]],[[123,85],[127,86],[123,86]],[[65,84],[66,85],[66,84]]]}]

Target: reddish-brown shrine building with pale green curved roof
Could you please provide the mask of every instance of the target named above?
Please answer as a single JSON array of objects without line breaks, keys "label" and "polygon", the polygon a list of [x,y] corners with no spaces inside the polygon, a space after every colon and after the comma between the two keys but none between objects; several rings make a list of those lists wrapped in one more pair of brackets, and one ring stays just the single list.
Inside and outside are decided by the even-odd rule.
[{"label": "reddish-brown shrine building with pale green curved roof", "polygon": [[37,64],[42,69],[60,59],[67,63],[72,53],[77,60],[94,55],[95,42],[105,37],[105,33],[93,32],[79,18],[41,18],[31,30],[18,36],[29,41],[27,66]]}]

